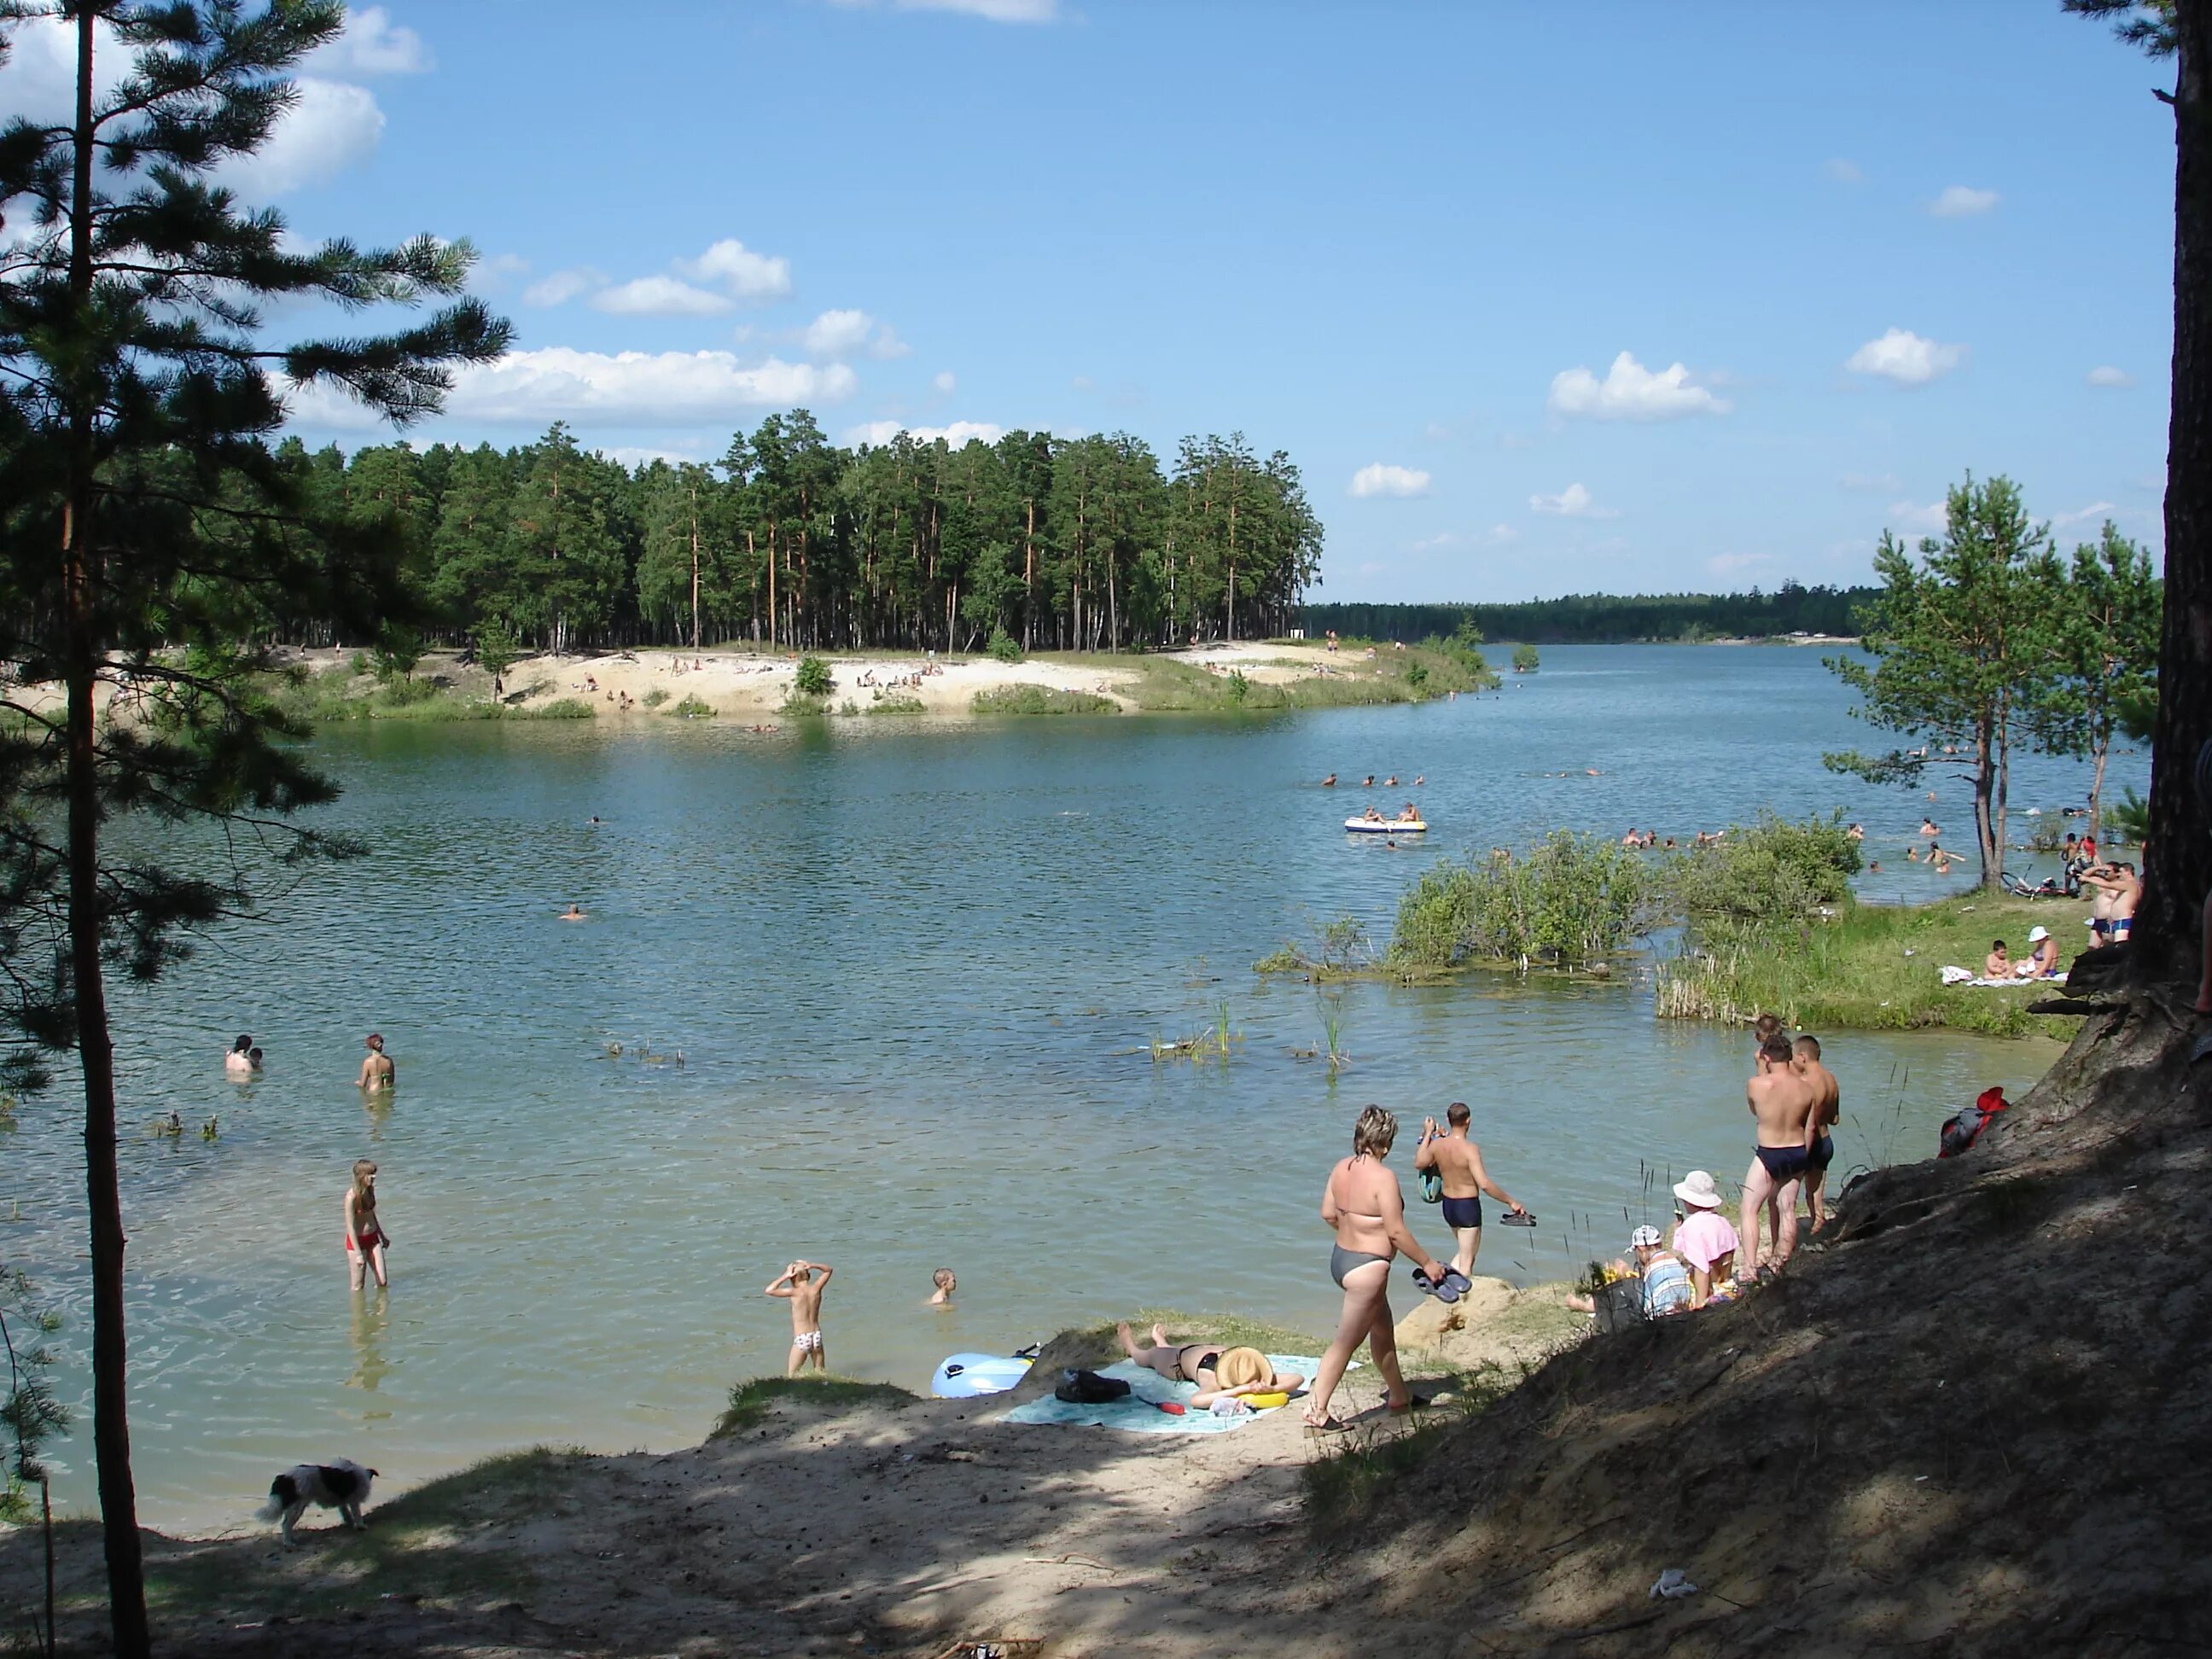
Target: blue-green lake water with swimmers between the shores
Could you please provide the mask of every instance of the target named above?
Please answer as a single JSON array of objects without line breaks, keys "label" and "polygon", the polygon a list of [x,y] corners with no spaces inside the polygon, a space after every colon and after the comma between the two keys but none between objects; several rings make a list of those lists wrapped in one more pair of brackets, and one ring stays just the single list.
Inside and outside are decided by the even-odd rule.
[{"label": "blue-green lake water with swimmers between the shores", "polygon": [[[144,1515],[237,1520],[303,1458],[405,1482],[535,1440],[692,1442],[734,1378],[781,1369],[761,1287],[794,1254],[838,1267],[832,1365],[909,1387],[947,1352],[1137,1305],[1327,1329],[1314,1208],[1369,1099],[1409,1128],[1473,1102],[1493,1175],[1542,1217],[1491,1228],[1482,1270],[1615,1252],[1666,1179],[1741,1177],[1743,1033],[1655,1022],[1639,982],[1321,998],[1250,962],[1347,911],[1387,936],[1440,856],[1555,825],[1688,838],[1763,803],[1847,810],[1893,869],[1874,896],[1933,894],[1898,865],[1927,803],[1820,770],[1865,741],[1845,710],[1809,650],[1621,646],[1546,650],[1486,699],[1234,721],[334,730],[327,818],[372,856],[117,1004],[126,1124],[221,1115],[215,1144],[126,1128]],[[2112,790],[2141,768],[2117,761]],[[1429,781],[1316,787],[1332,770]],[[2081,787],[2015,763],[2022,807]],[[1938,790],[1966,845],[1964,785]],[[1418,799],[1429,845],[1345,836],[1369,799]],[[588,922],[555,920],[571,898]],[[1225,1064],[1135,1053],[1221,1004]],[[1292,1053],[1327,1009],[1338,1077]],[[352,1088],[372,1026],[400,1071],[376,1108]],[[234,1031],[270,1053],[243,1088]],[[1834,1037],[1838,1183],[1924,1155],[1964,1095],[2051,1053]],[[64,1301],[82,1396],[82,1155],[66,1097],[20,1119],[0,1256]],[[389,1296],[356,1301],[338,1201],[361,1155],[396,1245]],[[1433,1210],[1416,1228],[1449,1243]],[[956,1312],[922,1305],[940,1263]],[[58,1453],[88,1506],[88,1433]]]}]

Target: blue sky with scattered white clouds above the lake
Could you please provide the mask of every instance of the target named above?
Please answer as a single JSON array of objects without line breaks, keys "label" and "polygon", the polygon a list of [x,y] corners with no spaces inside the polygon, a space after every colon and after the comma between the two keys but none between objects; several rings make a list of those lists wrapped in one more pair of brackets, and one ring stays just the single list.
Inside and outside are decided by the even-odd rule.
[{"label": "blue sky with scattered white clouds above the lake", "polygon": [[1851,582],[1966,469],[2157,544],[2166,69],[2055,0],[389,0],[312,69],[248,184],[518,325],[425,438],[1241,429],[1338,599]]}]

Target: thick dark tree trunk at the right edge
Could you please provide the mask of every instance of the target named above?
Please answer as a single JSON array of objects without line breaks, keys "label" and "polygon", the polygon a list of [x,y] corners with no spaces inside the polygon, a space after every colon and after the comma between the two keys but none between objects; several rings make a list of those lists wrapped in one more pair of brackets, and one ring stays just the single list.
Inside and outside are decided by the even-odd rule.
[{"label": "thick dark tree trunk at the right edge", "polygon": [[2194,792],[2212,741],[2212,0],[2174,4],[2174,407],[2166,440],[2166,635],[2150,845],[2135,916],[2146,978],[2197,960],[2212,838]]}]

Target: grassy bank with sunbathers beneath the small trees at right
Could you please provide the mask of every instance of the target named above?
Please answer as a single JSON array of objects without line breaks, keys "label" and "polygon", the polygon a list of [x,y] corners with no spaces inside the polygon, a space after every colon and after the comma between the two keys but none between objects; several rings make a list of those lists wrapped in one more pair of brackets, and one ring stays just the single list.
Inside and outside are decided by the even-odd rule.
[{"label": "grassy bank with sunbathers beneath the small trees at right", "polygon": [[1836,905],[1834,916],[1708,936],[1659,969],[1657,1009],[1677,1020],[1750,1020],[1778,1013],[1798,1029],[1951,1029],[1995,1037],[2073,1037],[2077,1020],[2028,1013],[2055,984],[1947,987],[1944,964],[1982,971],[1995,938],[2026,953],[2028,929],[2048,927],[2064,951],[2084,947],[2088,905],[1962,894],[1933,905]]}]

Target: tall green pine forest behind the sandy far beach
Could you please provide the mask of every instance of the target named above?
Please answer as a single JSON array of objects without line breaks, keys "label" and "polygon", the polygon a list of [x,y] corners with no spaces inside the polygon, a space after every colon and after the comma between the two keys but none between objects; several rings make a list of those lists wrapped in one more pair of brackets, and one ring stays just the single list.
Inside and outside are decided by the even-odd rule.
[{"label": "tall green pine forest behind the sandy far beach", "polygon": [[[288,449],[325,513],[389,520],[418,633],[524,648],[752,639],[796,648],[1113,650],[1281,635],[1321,520],[1281,451],[1011,431],[958,449],[832,445],[805,409],[719,462],[624,467],[555,422],[515,449]],[[338,644],[319,617],[272,617]]]}]

